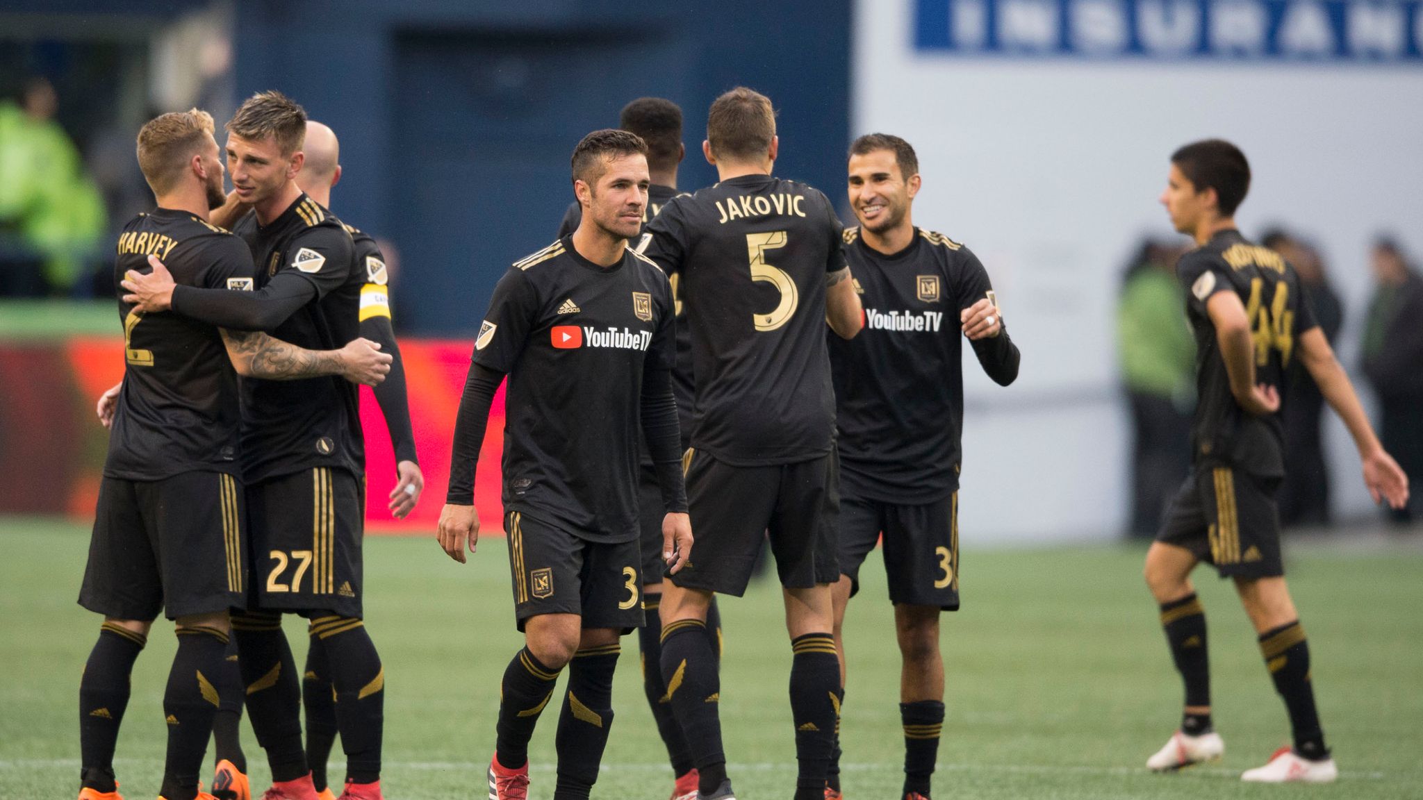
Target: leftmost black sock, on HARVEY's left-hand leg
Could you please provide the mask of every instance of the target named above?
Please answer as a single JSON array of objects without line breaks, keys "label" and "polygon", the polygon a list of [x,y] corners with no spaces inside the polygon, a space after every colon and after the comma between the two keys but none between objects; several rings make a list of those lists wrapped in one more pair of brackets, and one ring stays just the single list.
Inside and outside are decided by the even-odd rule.
[{"label": "leftmost black sock, on HARVEY's left-hand leg", "polygon": [[114,747],[128,707],[128,676],[148,641],[142,633],[105,622],[80,679],[80,780],[95,791],[114,791]]}]

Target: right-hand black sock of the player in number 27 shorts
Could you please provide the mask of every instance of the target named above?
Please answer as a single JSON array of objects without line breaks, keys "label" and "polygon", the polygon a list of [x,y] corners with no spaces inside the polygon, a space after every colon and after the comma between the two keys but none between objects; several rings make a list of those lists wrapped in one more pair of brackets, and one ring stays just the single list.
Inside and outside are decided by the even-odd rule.
[{"label": "right-hand black sock of the player in number 27 shorts", "polygon": [[[330,619],[330,618],[327,618]],[[346,753],[346,780],[380,780],[380,746],[386,726],[386,670],[366,625],[353,616],[317,622],[312,631],[326,646],[336,688],[336,725]]]}]

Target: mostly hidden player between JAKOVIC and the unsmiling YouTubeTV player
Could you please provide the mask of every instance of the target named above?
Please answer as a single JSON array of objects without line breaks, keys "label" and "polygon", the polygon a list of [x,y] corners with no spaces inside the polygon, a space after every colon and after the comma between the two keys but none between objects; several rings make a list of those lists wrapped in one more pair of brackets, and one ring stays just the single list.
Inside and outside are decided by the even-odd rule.
[{"label": "mostly hidden player between JAKOVIC and the unsmiling YouTubeTV player", "polygon": [[[682,144],[682,108],[670,100],[660,97],[640,97],[623,107],[619,127],[642,137],[647,142],[647,177],[652,185],[647,186],[647,206],[642,215],[643,233],[638,238],[640,246],[647,229],[647,221],[662,212],[662,206],[677,195],[677,165],[686,155],[687,148]],[[558,226],[558,236],[572,233],[582,219],[583,205],[573,201],[564,215],[564,222]],[[677,364],[672,369],[672,394],[677,399],[677,428],[682,431],[682,450],[692,444],[692,332],[686,326],[682,313],[682,282],[679,276],[672,276],[672,302],[677,309],[676,339]],[[662,578],[665,564],[662,564],[662,494],[657,487],[657,471],[652,463],[652,456],[646,448],[642,451],[642,463],[638,468],[638,508],[642,520],[642,596],[646,623],[638,629],[638,649],[642,651],[642,689],[647,696],[647,706],[652,717],[657,723],[657,735],[667,747],[667,759],[672,762],[672,772],[676,783],[672,789],[672,800],[694,800],[697,793],[697,769],[692,760],[692,746],[682,733],[682,726],[672,716],[672,703],[667,700],[667,685],[662,679],[662,618],[657,609],[662,604]],[[717,612],[716,601],[707,609],[707,638],[720,658],[721,655],[721,615]]]}]

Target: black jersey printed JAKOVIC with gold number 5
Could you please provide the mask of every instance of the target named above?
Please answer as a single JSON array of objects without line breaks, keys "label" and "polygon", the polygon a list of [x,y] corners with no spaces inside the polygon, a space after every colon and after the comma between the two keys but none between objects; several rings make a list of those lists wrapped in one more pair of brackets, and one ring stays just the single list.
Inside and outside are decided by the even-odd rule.
[{"label": "black jersey printed JAKOVIC with gold number 5", "polygon": [[677,275],[692,332],[692,446],[731,465],[791,464],[832,447],[825,275],[845,266],[820,191],[743,175],[673,198],[643,252]]}]

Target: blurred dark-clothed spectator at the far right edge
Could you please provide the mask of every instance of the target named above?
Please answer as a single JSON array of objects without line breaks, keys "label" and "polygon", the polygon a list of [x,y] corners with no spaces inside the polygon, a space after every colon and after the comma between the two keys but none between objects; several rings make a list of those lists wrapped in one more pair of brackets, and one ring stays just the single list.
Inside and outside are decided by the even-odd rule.
[{"label": "blurred dark-clothed spectator at the far right edge", "polygon": [[1363,332],[1363,373],[1383,410],[1380,438],[1409,474],[1407,507],[1389,511],[1395,522],[1413,521],[1423,474],[1423,278],[1389,238],[1373,245],[1377,288]]}]

